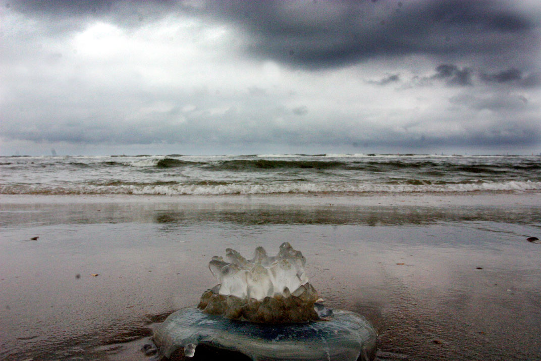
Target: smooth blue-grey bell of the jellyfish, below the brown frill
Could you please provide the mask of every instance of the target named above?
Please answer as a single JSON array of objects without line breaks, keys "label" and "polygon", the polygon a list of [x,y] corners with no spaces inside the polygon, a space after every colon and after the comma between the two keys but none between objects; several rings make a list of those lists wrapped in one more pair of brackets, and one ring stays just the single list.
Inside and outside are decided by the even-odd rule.
[{"label": "smooth blue-grey bell of the jellyfish, below the brown frill", "polygon": [[254,361],[371,361],[377,334],[362,316],[334,311],[327,320],[262,324],[206,314],[196,307],[176,311],[154,330],[160,355],[177,349],[193,356],[197,345],[236,351]]}]

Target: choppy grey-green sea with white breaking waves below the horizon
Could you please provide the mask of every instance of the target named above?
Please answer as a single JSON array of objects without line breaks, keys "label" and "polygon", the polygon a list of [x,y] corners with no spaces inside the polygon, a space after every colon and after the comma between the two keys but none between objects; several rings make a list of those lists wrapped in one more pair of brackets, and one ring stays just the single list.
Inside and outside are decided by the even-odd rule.
[{"label": "choppy grey-green sea with white breaking waves below the horizon", "polygon": [[541,190],[541,156],[0,157],[0,194],[308,194]]}]

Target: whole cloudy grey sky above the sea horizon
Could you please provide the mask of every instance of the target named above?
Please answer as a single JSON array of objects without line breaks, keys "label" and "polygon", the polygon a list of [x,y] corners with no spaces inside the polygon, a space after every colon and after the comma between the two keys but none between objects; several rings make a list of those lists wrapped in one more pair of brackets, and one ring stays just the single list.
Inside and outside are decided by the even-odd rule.
[{"label": "whole cloudy grey sky above the sea horizon", "polygon": [[541,153],[539,0],[0,0],[0,155]]}]

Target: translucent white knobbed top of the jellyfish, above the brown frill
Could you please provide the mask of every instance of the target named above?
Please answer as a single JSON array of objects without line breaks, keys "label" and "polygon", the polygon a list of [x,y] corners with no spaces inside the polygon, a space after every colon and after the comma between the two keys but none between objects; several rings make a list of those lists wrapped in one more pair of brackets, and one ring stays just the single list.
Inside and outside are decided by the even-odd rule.
[{"label": "translucent white knobbed top of the jellyfish, above the brown frill", "polygon": [[210,272],[220,284],[219,294],[223,296],[254,298],[259,301],[276,294],[288,297],[308,283],[304,268],[306,259],[288,242],[280,246],[275,257],[268,257],[263,247],[257,247],[254,258],[250,260],[232,248],[227,248],[226,260],[228,262],[215,256],[209,263]]}]

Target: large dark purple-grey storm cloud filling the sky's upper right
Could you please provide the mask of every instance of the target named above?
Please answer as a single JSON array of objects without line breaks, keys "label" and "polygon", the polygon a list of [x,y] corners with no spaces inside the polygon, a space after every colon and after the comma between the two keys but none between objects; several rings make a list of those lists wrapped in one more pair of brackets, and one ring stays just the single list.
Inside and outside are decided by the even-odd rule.
[{"label": "large dark purple-grey storm cloud filling the sky's upper right", "polygon": [[502,51],[539,45],[537,20],[502,1],[241,1],[211,8],[252,34],[252,54],[307,68],[410,54],[497,60]]}]

